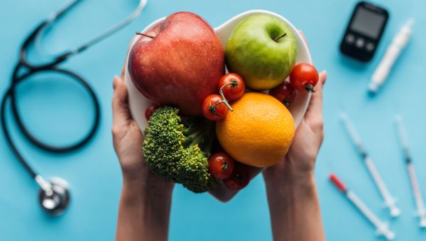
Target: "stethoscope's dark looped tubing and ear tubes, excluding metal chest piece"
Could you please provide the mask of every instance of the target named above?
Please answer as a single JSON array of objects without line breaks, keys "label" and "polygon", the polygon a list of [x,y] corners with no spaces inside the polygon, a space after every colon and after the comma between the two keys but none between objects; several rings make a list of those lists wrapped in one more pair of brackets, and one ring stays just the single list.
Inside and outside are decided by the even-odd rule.
[{"label": "stethoscope's dark looped tubing and ear tubes, excluding metal chest piece", "polygon": [[[91,47],[92,45],[98,43],[100,40],[107,38],[109,35],[115,33],[116,31],[120,30],[127,24],[129,24],[133,19],[135,19],[143,10],[143,8],[146,6],[147,0],[140,0],[138,6],[136,9],[129,14],[124,20],[120,21],[119,23],[116,23],[116,25],[111,26],[111,28],[104,31],[104,33],[99,34],[97,37],[93,38],[92,40],[87,41],[87,43],[84,43],[80,47],[77,47],[73,50],[67,50],[63,52],[62,54],[56,56],[53,58],[51,62],[48,62],[44,65],[33,65],[26,59],[26,50],[28,46],[37,40],[38,36],[40,36],[40,33],[43,32],[45,28],[48,28],[48,26],[58,20],[58,18],[62,17],[63,14],[65,14],[68,10],[72,9],[73,6],[75,6],[78,2],[81,0],[73,0],[70,1],[67,5],[53,13],[48,19],[40,23],[26,38],[26,40],[21,45],[21,51],[19,55],[19,61],[16,64],[15,68],[13,69],[13,74],[11,77],[11,84],[9,86],[9,89],[6,90],[4,96],[1,99],[1,109],[0,109],[0,118],[1,118],[1,128],[4,132],[4,136],[6,138],[7,143],[11,147],[11,150],[16,155],[19,162],[21,162],[22,166],[26,169],[26,172],[31,175],[35,181],[37,181],[38,177],[41,177],[38,172],[35,172],[35,169],[31,167],[28,162],[26,162],[26,159],[23,157],[21,152],[18,150],[18,147],[16,146],[15,142],[13,142],[13,139],[11,137],[11,133],[9,132],[8,126],[7,126],[7,118],[6,118],[6,103],[11,103],[11,111],[13,119],[16,121],[16,125],[18,126],[18,130],[21,131],[21,133],[25,136],[25,138],[30,141],[33,145],[36,147],[39,147],[42,150],[46,150],[48,152],[55,152],[55,153],[64,153],[64,152],[72,152],[74,150],[79,149],[80,147],[84,146],[89,142],[93,136],[95,135],[98,127],[99,127],[99,121],[100,121],[100,106],[99,106],[99,99],[97,98],[97,95],[94,93],[92,87],[79,75],[75,74],[74,72],[70,72],[66,69],[59,69],[57,65],[59,65],[62,62],[65,62],[65,60],[69,59],[72,55],[75,55],[77,53],[80,53],[84,50],[87,50],[88,47]],[[26,69],[26,72],[24,74],[19,75],[19,72],[21,72],[23,69]],[[72,143],[70,145],[65,146],[54,146],[54,145],[48,145],[47,143],[39,140],[36,138],[29,130],[26,128],[26,126],[23,124],[21,114],[18,111],[18,99],[16,96],[16,86],[18,84],[24,82],[28,77],[38,74],[40,72],[58,72],[60,74],[67,74],[69,77],[72,77],[77,83],[81,84],[84,89],[89,93],[90,99],[92,100],[92,103],[94,104],[94,120],[92,123],[92,126],[90,130],[87,132],[86,135],[79,141]],[[40,185],[40,184],[39,184]],[[43,189],[43,186],[42,186]]]}]

